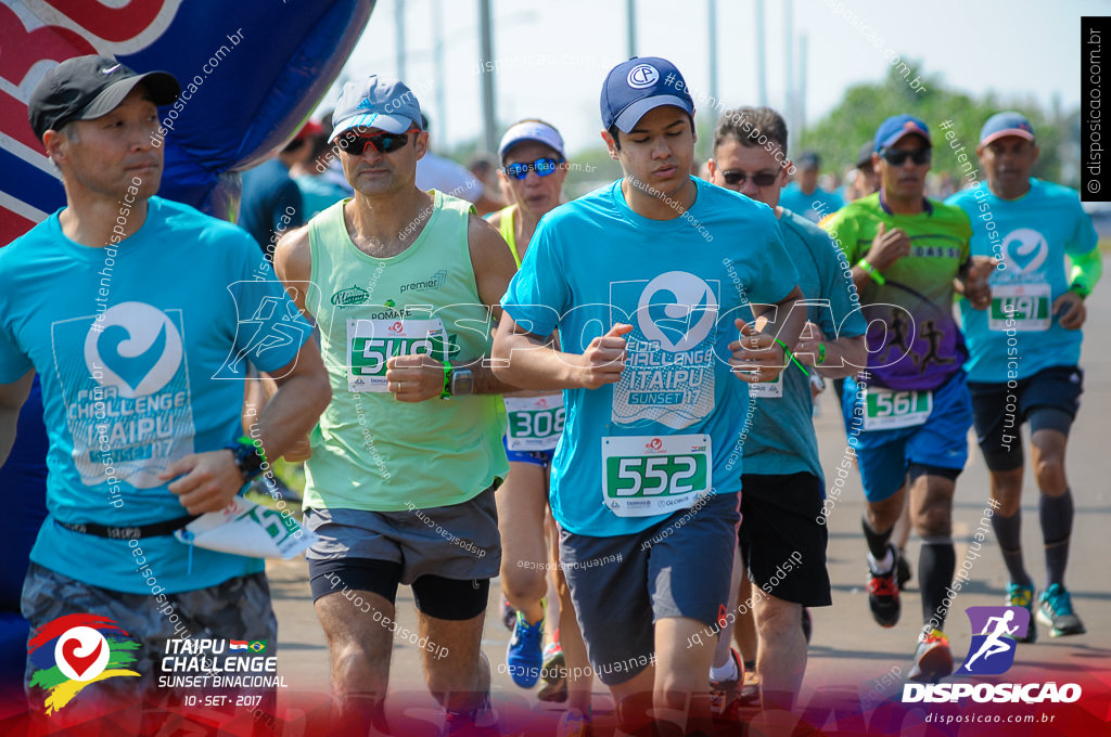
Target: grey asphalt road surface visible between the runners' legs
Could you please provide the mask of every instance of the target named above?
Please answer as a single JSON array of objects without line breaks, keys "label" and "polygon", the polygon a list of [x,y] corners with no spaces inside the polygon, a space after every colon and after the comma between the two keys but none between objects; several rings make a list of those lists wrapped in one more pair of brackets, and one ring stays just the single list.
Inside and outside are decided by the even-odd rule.
[{"label": "grey asphalt road surface visible between the runners' legs", "polygon": [[[1042,679],[1068,679],[1083,674],[1085,677],[1111,683],[1111,575],[1108,573],[1111,554],[1111,466],[1104,466],[1109,430],[1103,423],[1111,417],[1111,287],[1101,289],[1089,299],[1089,317],[1085,325],[1082,367],[1085,371],[1082,407],[1073,425],[1069,445],[1068,474],[1075,499],[1075,524],[1072,535],[1070,567],[1067,585],[1072,592],[1073,604],[1083,618],[1088,634],[1051,639],[1045,629],[1032,645],[1022,645],[1010,676],[1039,676]],[[842,431],[837,401],[828,392],[820,398],[821,414],[815,420],[821,457],[827,475],[840,463],[844,454]],[[1028,438],[1028,436],[1027,436]],[[979,448],[972,443],[971,460],[957,484],[954,504],[954,538],[957,562],[965,557],[972,535],[983,516],[988,497],[988,474]],[[830,545],[829,572],[833,582],[833,606],[812,610],[813,639],[810,662],[799,703],[807,705],[815,699],[840,700],[848,708],[859,710],[860,699],[879,700],[880,694],[895,693],[901,686],[891,686],[907,673],[919,629],[920,599],[914,580],[903,595],[903,617],[898,626],[882,629],[869,614],[864,593],[864,542],[860,532],[863,493],[859,476],[852,474],[845,491],[829,517]],[[1044,582],[1041,558],[1041,533],[1038,526],[1038,489],[1028,468],[1023,489],[1022,513],[1023,548],[1027,564],[1039,586]],[[983,556],[973,561],[971,583],[965,585],[953,604],[945,634],[950,637],[954,657],[960,659],[969,647],[972,633],[964,616],[964,607],[998,605],[1003,603],[1008,583],[1007,572],[989,536]],[[918,559],[919,543],[914,536],[908,546],[912,562]],[[307,567],[301,561],[277,563],[269,566],[273,588],[274,608],[280,626],[279,672],[289,688],[283,698],[293,691],[323,695],[328,691],[328,649],[316,619],[309,596]],[[501,594],[491,587],[490,606],[483,635],[483,650],[494,666],[493,693],[496,705],[504,711],[532,708],[536,717],[550,718],[554,724],[560,707],[538,705],[534,693],[524,691],[512,684],[509,676],[498,673],[504,663],[509,633],[500,619]],[[416,632],[417,618],[412,596],[403,587],[398,597],[398,620]],[[433,714],[434,704],[428,697],[421,672],[419,652],[408,642],[397,642],[391,668],[391,694],[402,700],[423,705]],[[401,696],[403,695],[403,696]],[[392,698],[392,697],[391,697]],[[853,704],[857,706],[853,707]],[[394,707],[391,706],[391,709]],[[603,734],[612,723],[612,705],[604,689],[597,685],[593,699],[595,719]],[[418,708],[418,711],[421,709]],[[411,713],[411,711],[410,711]],[[1107,715],[1104,715],[1107,718]],[[543,723],[538,723],[537,734],[543,734]],[[1108,727],[1111,730],[1111,726]],[[548,733],[550,734],[550,733]],[[1008,733],[1004,729],[995,734]]]}]

